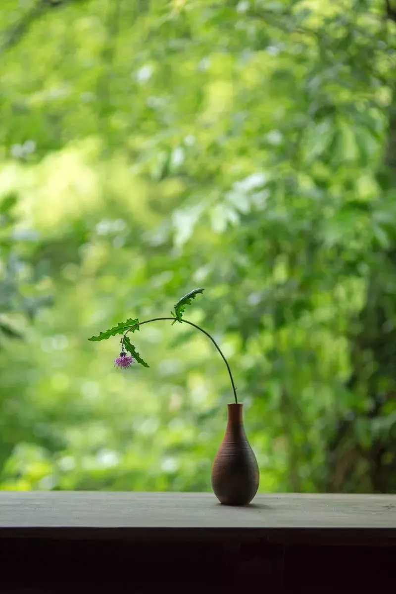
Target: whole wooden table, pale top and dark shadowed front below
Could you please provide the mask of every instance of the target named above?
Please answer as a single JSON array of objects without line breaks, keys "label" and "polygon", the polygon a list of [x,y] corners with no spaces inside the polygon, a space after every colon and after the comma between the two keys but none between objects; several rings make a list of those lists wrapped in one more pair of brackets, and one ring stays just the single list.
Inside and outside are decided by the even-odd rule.
[{"label": "whole wooden table, pale top and dark shadowed front below", "polygon": [[396,592],[396,495],[0,492],[0,563],[13,594]]}]

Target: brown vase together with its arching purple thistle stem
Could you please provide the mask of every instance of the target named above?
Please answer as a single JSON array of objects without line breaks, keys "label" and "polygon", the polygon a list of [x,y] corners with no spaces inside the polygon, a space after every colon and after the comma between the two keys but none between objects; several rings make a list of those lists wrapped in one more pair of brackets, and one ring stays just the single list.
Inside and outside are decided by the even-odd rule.
[{"label": "brown vase together with its arching purple thistle stem", "polygon": [[129,332],[139,330],[144,324],[151,324],[157,321],[172,321],[172,326],[176,322],[188,324],[205,334],[213,342],[227,366],[235,402],[227,405],[226,433],[213,462],[211,475],[212,487],[220,503],[226,505],[246,505],[252,501],[257,492],[259,469],[256,457],[243,428],[243,405],[238,402],[230,366],[216,340],[206,330],[183,318],[186,306],[191,305],[192,299],[198,293],[203,292],[204,289],[194,289],[179,299],[175,304],[175,311],[171,312],[172,317],[158,317],[144,321],[139,321],[138,318],[129,318],[126,322],[119,323],[105,332],[100,332],[98,336],[93,336],[89,340],[99,342],[100,340],[109,339],[110,336],[122,334],[120,341],[121,352],[114,362],[115,366],[121,369],[129,369],[135,363],[148,367],[128,337]]}]

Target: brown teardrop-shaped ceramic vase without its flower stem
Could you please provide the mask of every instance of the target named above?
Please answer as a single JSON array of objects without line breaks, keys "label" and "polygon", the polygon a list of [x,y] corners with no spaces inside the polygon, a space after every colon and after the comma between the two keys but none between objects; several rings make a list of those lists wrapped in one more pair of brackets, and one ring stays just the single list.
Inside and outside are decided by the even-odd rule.
[{"label": "brown teardrop-shaped ceramic vase without its flower stem", "polygon": [[258,489],[258,464],[243,428],[243,405],[227,407],[226,434],[213,462],[212,488],[224,505],[247,505]]}]

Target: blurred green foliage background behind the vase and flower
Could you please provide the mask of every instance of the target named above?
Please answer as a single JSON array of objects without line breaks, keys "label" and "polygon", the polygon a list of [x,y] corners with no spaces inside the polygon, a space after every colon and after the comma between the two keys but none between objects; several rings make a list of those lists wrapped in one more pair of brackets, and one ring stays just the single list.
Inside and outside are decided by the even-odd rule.
[{"label": "blurred green foliage background behind the vase and flower", "polygon": [[396,492],[395,12],[2,0],[1,489]]}]

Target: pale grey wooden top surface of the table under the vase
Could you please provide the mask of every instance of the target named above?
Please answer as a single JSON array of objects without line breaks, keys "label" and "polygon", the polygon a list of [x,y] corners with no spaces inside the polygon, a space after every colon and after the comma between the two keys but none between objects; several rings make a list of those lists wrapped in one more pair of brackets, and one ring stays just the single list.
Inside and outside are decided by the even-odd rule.
[{"label": "pale grey wooden top surface of the table under the vase", "polygon": [[396,536],[396,495],[259,494],[247,507],[210,493],[0,492],[0,536],[18,530],[365,530]]}]

